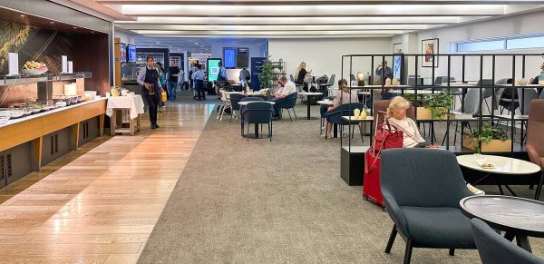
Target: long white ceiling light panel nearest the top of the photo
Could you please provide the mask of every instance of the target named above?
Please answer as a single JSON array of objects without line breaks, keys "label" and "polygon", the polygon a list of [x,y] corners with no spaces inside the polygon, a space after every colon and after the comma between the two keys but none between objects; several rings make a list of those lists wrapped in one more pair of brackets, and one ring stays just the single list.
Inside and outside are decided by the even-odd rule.
[{"label": "long white ceiling light panel nearest the top of the photo", "polygon": [[124,15],[503,15],[504,5],[108,5]]}]

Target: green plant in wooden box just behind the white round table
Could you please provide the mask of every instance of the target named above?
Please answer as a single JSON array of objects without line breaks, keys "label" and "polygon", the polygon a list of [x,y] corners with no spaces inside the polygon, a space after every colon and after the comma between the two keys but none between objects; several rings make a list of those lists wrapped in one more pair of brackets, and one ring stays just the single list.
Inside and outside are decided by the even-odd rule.
[{"label": "green plant in wooden box just behind the white round table", "polygon": [[511,146],[511,140],[506,132],[490,123],[484,123],[481,132],[465,132],[462,141],[463,147],[475,152],[510,152]]}]

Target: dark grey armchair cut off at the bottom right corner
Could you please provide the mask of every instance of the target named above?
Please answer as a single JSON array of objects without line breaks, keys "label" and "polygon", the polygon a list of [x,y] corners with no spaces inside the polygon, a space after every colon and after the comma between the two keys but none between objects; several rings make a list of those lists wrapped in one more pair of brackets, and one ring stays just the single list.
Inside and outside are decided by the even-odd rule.
[{"label": "dark grey armchair cut off at the bottom right corner", "polygon": [[543,264],[544,259],[521,249],[516,244],[501,237],[497,231],[479,219],[472,219],[474,240],[478,246],[483,264]]}]

